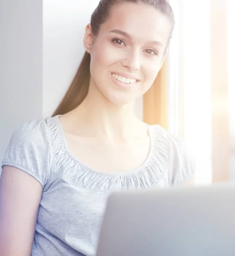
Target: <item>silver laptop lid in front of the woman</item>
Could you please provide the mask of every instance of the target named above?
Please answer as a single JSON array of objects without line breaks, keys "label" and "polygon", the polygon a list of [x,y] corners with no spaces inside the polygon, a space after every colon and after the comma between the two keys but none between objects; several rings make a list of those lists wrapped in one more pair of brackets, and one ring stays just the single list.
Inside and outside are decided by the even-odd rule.
[{"label": "silver laptop lid in front of the woman", "polygon": [[235,184],[113,193],[97,256],[235,256]]}]

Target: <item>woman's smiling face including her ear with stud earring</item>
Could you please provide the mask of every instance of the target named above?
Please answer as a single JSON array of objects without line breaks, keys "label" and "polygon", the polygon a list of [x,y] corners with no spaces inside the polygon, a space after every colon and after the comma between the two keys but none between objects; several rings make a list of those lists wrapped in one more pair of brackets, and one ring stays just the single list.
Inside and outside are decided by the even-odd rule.
[{"label": "woman's smiling face including her ear with stud earring", "polygon": [[116,105],[142,96],[162,66],[170,30],[168,17],[152,6],[135,3],[113,8],[93,44],[87,26],[84,45],[91,55],[90,90],[95,86]]}]

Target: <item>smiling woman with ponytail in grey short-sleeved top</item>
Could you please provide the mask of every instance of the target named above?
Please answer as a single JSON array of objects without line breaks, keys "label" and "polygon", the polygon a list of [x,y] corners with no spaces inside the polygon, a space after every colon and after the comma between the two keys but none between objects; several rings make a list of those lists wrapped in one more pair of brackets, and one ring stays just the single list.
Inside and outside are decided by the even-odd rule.
[{"label": "smiling woman with ponytail in grey short-sleeved top", "polygon": [[0,255],[95,256],[112,191],[171,187],[194,175],[182,140],[133,113],[168,50],[166,0],[102,0],[86,52],[52,117],[25,123],[3,158]]}]

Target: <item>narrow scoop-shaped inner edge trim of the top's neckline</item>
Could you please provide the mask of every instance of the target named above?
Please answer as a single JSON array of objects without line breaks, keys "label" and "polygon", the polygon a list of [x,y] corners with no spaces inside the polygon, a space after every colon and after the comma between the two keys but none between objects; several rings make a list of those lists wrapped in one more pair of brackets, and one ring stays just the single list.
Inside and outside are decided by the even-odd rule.
[{"label": "narrow scoop-shaped inner edge trim of the top's neckline", "polygon": [[56,128],[58,129],[58,134],[61,138],[61,142],[63,145],[63,149],[65,151],[65,153],[67,154],[67,156],[69,156],[76,164],[84,167],[85,169],[89,170],[90,172],[93,172],[94,174],[97,175],[102,175],[102,176],[128,176],[128,175],[134,175],[136,173],[138,173],[139,171],[141,171],[142,169],[146,168],[148,166],[148,164],[150,163],[151,157],[152,157],[152,152],[154,150],[154,139],[153,139],[153,134],[151,132],[151,126],[148,125],[147,123],[145,123],[147,130],[148,130],[148,136],[149,136],[149,140],[150,140],[150,146],[149,146],[149,151],[148,151],[148,155],[145,158],[145,160],[143,161],[143,163],[139,166],[136,167],[134,169],[125,171],[125,172],[115,172],[115,173],[111,173],[111,172],[101,172],[98,171],[96,169],[91,168],[90,166],[88,166],[86,163],[83,163],[82,161],[80,161],[77,157],[75,157],[71,152],[70,149],[68,148],[68,144],[67,144],[67,140],[60,122],[59,117],[62,115],[56,115],[55,117],[55,123],[56,123]]}]

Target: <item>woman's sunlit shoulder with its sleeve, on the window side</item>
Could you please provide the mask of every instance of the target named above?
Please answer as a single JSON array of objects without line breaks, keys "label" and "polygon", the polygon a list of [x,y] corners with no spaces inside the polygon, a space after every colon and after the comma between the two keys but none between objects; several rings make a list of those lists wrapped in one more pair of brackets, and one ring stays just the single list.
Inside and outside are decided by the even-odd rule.
[{"label": "woman's sunlit shoulder with its sleeve, on the window side", "polygon": [[[168,177],[172,185],[184,183],[195,175],[195,160],[191,146],[182,137],[165,131],[160,125],[151,125],[156,143],[162,140],[168,149]],[[157,140],[158,139],[158,140]]]}]

